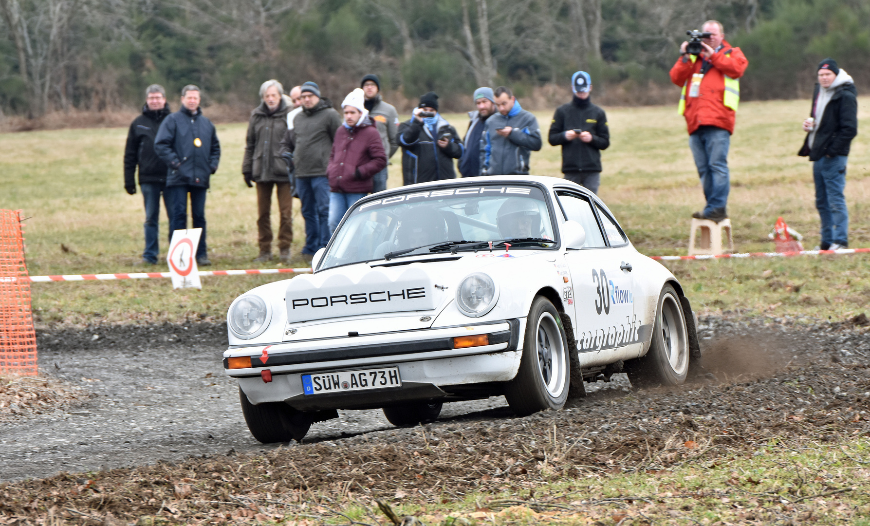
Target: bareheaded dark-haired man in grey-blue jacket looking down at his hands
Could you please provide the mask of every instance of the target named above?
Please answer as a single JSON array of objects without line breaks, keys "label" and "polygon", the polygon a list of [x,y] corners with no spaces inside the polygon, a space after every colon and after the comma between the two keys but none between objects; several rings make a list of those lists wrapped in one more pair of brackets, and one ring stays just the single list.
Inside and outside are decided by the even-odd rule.
[{"label": "bareheaded dark-haired man in grey-blue jacket looking down at his hands", "polygon": [[495,89],[495,106],[480,138],[482,175],[528,175],[529,157],[541,149],[538,119],[505,86]]}]

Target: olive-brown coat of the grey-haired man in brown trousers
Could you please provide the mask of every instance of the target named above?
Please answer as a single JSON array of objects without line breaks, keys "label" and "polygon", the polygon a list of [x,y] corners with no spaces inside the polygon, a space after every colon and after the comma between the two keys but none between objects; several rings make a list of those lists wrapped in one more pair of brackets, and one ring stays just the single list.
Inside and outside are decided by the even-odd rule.
[{"label": "olive-brown coat of the grey-haired man in brown trousers", "polygon": [[244,146],[242,173],[257,183],[287,183],[287,161],[281,157],[281,139],[287,132],[287,113],[291,110],[281,98],[275,111],[260,103],[251,111]]}]

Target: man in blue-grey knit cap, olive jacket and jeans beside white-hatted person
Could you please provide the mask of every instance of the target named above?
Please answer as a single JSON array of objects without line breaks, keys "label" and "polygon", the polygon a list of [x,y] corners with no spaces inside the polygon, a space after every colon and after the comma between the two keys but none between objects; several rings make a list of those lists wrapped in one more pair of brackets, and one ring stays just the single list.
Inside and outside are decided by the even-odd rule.
[{"label": "man in blue-grey knit cap, olive jacket and jeans beside white-hatted person", "polygon": [[341,127],[341,117],[328,98],[320,97],[318,84],[306,82],[301,88],[302,112],[293,118],[292,129],[281,141],[281,151],[293,152],[296,191],[305,219],[305,247],[310,259],[329,242],[329,165],[332,139]]}]

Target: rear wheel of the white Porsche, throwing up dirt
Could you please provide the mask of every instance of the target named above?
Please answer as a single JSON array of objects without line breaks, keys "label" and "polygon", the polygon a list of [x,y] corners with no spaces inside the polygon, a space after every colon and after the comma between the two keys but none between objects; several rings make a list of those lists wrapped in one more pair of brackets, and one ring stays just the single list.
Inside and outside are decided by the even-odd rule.
[{"label": "rear wheel of the white Porsche, throwing up dirt", "polygon": [[626,361],[626,374],[635,388],[679,385],[686,381],[689,358],[686,316],[677,291],[666,285],[659,294],[650,350]]}]

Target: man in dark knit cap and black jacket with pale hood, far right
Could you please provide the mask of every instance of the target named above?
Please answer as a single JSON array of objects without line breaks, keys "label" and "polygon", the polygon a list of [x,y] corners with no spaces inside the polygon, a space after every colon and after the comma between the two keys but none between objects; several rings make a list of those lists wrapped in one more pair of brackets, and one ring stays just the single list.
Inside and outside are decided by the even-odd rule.
[{"label": "man in dark knit cap and black jacket with pale hood, far right", "polygon": [[816,209],[821,219],[817,250],[849,246],[849,212],[843,191],[849,145],[858,135],[858,91],[852,77],[833,58],[817,68],[810,116],[804,120],[806,139],[798,155],[813,161]]}]

